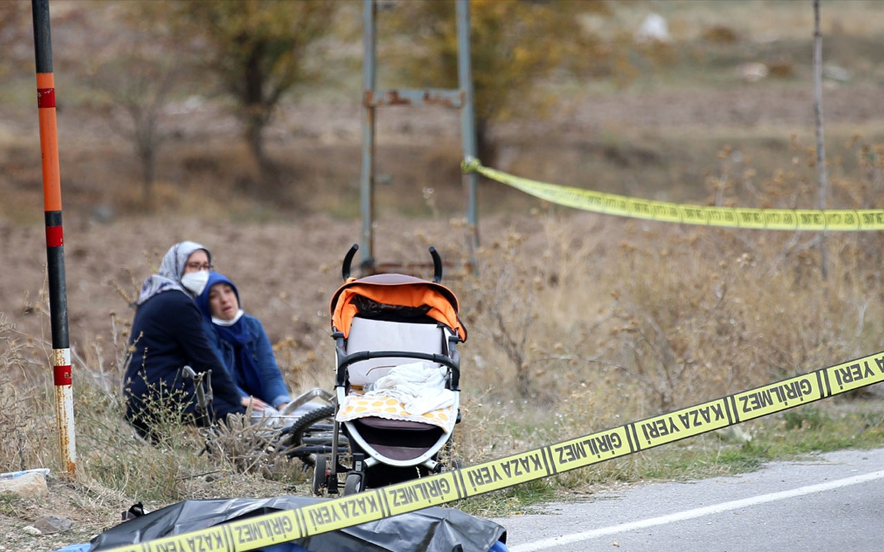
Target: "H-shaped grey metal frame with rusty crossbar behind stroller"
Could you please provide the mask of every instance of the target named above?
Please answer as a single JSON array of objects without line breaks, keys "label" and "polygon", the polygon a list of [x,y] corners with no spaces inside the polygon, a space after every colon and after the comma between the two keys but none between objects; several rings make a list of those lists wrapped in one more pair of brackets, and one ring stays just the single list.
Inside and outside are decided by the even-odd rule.
[{"label": "H-shaped grey metal frame with rusty crossbar behind stroller", "polygon": [[[362,231],[360,254],[362,272],[375,266],[374,184],[375,184],[375,109],[392,105],[441,105],[461,110],[463,157],[476,156],[476,110],[473,106],[473,71],[469,44],[469,0],[454,0],[457,19],[458,88],[423,90],[377,90],[377,0],[362,0],[362,173],[360,211]],[[469,261],[476,267],[478,246],[477,183],[475,172],[463,176],[467,193]]]}]

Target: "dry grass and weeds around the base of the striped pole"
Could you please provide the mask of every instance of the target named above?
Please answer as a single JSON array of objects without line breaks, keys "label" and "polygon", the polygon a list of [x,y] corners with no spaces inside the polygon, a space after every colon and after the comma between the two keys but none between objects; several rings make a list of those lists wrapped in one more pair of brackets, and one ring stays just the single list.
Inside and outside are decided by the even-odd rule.
[{"label": "dry grass and weeds around the base of the striped pole", "polygon": [[[113,319],[112,319],[113,320]],[[187,498],[266,496],[291,493],[304,475],[300,465],[270,458],[255,448],[256,430],[232,424],[202,453],[207,435],[174,416],[161,420],[163,438],[156,444],[134,435],[123,419],[118,389],[128,347],[116,324],[110,339],[96,340],[85,357],[74,354],[77,474],[57,472],[58,445],[51,382],[42,377],[45,352],[41,339],[21,336],[0,316],[0,471],[35,466],[52,468],[50,495],[39,498],[0,496],[0,533],[6,549],[22,552],[61,548],[88,541],[118,524],[120,512],[135,502],[148,510]],[[103,353],[110,344],[111,361]],[[40,360],[33,360],[38,358]],[[18,377],[16,377],[18,376]],[[14,384],[12,380],[15,380]],[[22,527],[47,513],[71,518],[61,534],[31,536]]]}]

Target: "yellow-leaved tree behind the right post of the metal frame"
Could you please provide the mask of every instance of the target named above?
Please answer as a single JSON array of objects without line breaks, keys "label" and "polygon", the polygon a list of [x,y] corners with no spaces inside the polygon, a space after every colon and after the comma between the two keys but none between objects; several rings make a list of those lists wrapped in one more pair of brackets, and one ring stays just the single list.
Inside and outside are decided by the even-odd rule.
[{"label": "yellow-leaved tree behind the right post of the metal frame", "polygon": [[[378,15],[380,64],[388,53],[403,87],[456,88],[454,1],[388,5]],[[559,72],[627,74],[624,49],[583,26],[587,17],[610,15],[606,2],[472,0],[469,6],[477,153],[484,163],[494,163],[492,125],[541,108],[548,100],[537,93],[544,79]],[[385,34],[394,36],[389,48]]]}]

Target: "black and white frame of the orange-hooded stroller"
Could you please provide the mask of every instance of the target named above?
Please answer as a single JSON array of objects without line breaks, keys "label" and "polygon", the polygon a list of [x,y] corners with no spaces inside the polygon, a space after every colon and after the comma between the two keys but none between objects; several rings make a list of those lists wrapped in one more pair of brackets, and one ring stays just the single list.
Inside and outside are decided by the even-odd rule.
[{"label": "black and white frame of the orange-hooded stroller", "polygon": [[[365,280],[355,280],[354,278],[350,278],[350,263],[358,248],[359,246],[352,246],[344,258],[341,275],[344,277],[347,284],[353,282],[365,282]],[[442,278],[442,261],[435,247],[430,248],[430,253],[433,260],[434,270],[432,282],[433,284],[439,284]],[[392,280],[400,278],[403,280],[400,284],[427,283],[418,278],[412,279],[411,276],[395,274],[378,275],[373,277],[378,278],[384,276],[388,276],[392,278]],[[407,278],[408,281],[406,281]],[[342,290],[347,284],[340,289]],[[385,284],[397,284],[397,282],[391,281],[385,282]],[[439,287],[441,288],[442,286],[440,285]],[[337,297],[338,294],[336,294],[335,299],[337,299]],[[332,308],[335,299],[332,299]],[[456,304],[456,298],[454,301]],[[445,342],[441,354],[398,350],[356,351],[347,353],[347,338],[344,332],[338,330],[332,333],[331,337],[335,340],[335,395],[338,408],[339,405],[344,402],[344,398],[347,397],[347,392],[349,391],[350,386],[348,378],[349,368],[353,366],[354,363],[380,358],[427,360],[447,368],[445,385],[446,389],[450,389],[454,392],[453,412],[457,413],[455,423],[460,422],[461,355],[457,350],[457,344],[461,343],[463,339],[461,339],[461,336],[456,330],[452,331],[447,328],[446,325],[441,323],[439,323],[438,326],[443,330]],[[438,436],[438,439],[436,439],[431,445],[425,447],[426,450],[424,450],[419,456],[397,460],[378,452],[375,445],[368,442],[362,435],[362,431],[357,428],[357,425],[366,424],[367,426],[367,420],[372,420],[372,425],[376,426],[375,429],[377,429],[378,432],[383,432],[385,430],[407,432],[409,429],[413,429],[417,426],[423,426],[422,429],[427,426],[427,424],[421,422],[385,420],[381,418],[360,419],[358,420],[358,423],[357,420],[343,422],[339,422],[337,419],[334,420],[331,435],[332,461],[328,462],[327,459],[322,456],[316,457],[316,466],[313,477],[314,493],[319,494],[322,488],[327,488],[329,494],[337,494],[339,492],[339,473],[346,473],[344,494],[349,495],[360,492],[366,487],[368,473],[372,468],[375,468],[376,471],[383,469],[386,473],[392,473],[395,480],[409,480],[413,479],[415,474],[439,473],[445,469],[445,466],[438,462],[437,458],[440,450],[446,446],[451,446],[452,435],[450,433],[442,431]],[[344,451],[342,452],[342,450]],[[346,457],[348,454],[351,457],[349,464],[346,463]]]}]

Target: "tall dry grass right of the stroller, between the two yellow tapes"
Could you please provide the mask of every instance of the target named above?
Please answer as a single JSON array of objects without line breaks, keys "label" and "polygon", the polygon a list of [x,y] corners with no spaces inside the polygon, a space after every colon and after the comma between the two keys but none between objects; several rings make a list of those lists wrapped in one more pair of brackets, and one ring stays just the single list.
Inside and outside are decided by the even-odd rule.
[{"label": "tall dry grass right of the stroller, between the two yellow tapes", "polygon": [[842,254],[823,283],[812,236],[614,225],[546,221],[543,254],[511,236],[484,260],[463,294],[484,408],[518,397],[600,429],[878,347],[857,236],[829,238]]}]

